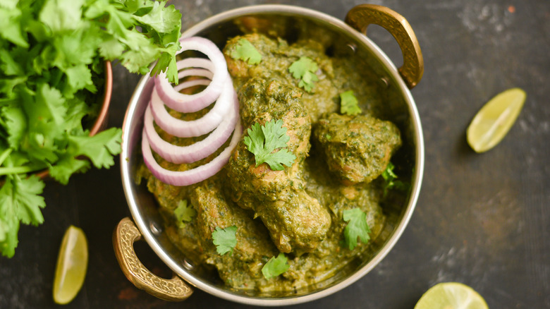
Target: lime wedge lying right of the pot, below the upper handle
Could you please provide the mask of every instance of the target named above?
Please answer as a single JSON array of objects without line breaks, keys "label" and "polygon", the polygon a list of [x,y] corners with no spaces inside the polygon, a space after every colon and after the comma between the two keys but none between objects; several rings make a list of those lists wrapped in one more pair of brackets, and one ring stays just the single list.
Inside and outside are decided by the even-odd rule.
[{"label": "lime wedge lying right of the pot, below the upper handle", "polygon": [[525,97],[525,91],[512,88],[490,99],[468,126],[466,135],[470,147],[475,152],[486,152],[496,146],[518,118]]}]

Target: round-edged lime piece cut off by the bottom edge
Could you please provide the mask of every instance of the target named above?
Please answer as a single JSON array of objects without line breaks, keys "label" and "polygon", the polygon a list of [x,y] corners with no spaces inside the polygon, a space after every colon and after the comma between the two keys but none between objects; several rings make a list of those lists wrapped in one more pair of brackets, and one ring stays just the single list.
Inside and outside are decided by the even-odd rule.
[{"label": "round-edged lime piece cut off by the bottom edge", "polygon": [[474,289],[458,282],[432,286],[416,303],[415,309],[489,309]]}]

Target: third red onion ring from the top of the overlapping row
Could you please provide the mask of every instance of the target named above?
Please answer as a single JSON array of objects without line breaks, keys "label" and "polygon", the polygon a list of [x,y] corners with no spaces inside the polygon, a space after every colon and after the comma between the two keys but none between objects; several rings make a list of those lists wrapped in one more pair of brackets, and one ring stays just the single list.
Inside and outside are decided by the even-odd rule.
[{"label": "third red onion ring from the top of the overlapping row", "polygon": [[218,150],[221,145],[224,145],[231,132],[234,131],[238,119],[238,99],[236,92],[233,90],[233,109],[229,110],[226,119],[221,121],[220,125],[204,140],[188,146],[177,146],[166,142],[154,130],[153,115],[150,106],[145,110],[144,132],[147,135],[152,150],[157,152],[163,159],[176,164],[192,163],[208,157]]}]

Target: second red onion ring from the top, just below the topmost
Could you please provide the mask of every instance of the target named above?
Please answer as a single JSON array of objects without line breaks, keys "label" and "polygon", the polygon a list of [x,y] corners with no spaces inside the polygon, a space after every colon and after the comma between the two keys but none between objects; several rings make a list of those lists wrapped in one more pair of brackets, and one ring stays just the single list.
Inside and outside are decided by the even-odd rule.
[{"label": "second red onion ring from the top, just below the topmost", "polygon": [[231,78],[228,78],[226,83],[222,86],[223,91],[219,98],[217,98],[214,107],[200,119],[192,121],[183,121],[171,116],[168,111],[166,111],[166,108],[164,108],[164,102],[159,96],[157,89],[154,88],[151,94],[151,112],[154,121],[157,122],[157,125],[166,131],[166,133],[176,135],[179,138],[191,138],[212,132],[214,128],[219,126],[224,116],[226,116],[228,109],[231,107],[233,92],[235,92],[233,90]]}]

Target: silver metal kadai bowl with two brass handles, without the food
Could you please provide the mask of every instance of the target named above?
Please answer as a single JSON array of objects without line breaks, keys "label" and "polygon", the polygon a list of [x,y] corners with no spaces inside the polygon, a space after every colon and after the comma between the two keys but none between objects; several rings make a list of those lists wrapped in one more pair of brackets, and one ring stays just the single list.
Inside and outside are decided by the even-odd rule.
[{"label": "silver metal kadai bowl with two brass handles, without the food", "polygon": [[[368,25],[386,28],[396,38],[403,52],[403,66],[396,68],[384,52],[365,36]],[[185,31],[183,37],[207,37],[221,49],[230,37],[243,34],[243,27],[257,32],[276,32],[292,42],[295,33],[307,29],[323,40],[334,54],[344,53],[364,61],[379,76],[380,95],[390,111],[389,120],[401,130],[403,146],[394,164],[400,167],[400,179],[410,183],[403,198],[384,205],[386,224],[374,241],[368,254],[359,255],[333,277],[289,293],[259,293],[240,291],[225,286],[215,272],[206,272],[186,260],[185,253],[169,241],[157,203],[145,184],[135,182],[140,164],[140,139],[143,114],[152,90],[152,78],[144,76],[128,105],[123,124],[121,173],[123,187],[132,219],[125,218],[116,226],[114,248],[118,262],[130,281],[140,289],[166,300],[187,298],[193,289],[201,289],[214,296],[249,305],[291,305],[313,301],[339,291],[367,274],[393,248],[407,226],[420,192],[424,171],[424,141],[415,102],[410,94],[422,78],[423,60],[415,34],[403,16],[389,8],[360,5],[352,8],[346,22],[298,6],[261,5],[237,8],[212,16]],[[347,53],[347,54],[346,54]],[[392,159],[393,161],[393,159]],[[143,181],[145,183],[145,181]],[[160,259],[175,273],[172,279],[163,279],[149,272],[133,250],[133,242],[145,238]]]}]

